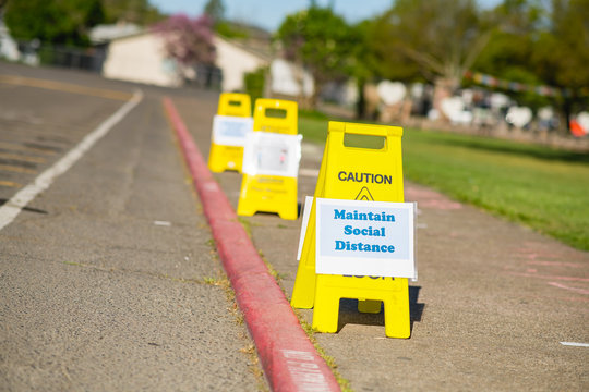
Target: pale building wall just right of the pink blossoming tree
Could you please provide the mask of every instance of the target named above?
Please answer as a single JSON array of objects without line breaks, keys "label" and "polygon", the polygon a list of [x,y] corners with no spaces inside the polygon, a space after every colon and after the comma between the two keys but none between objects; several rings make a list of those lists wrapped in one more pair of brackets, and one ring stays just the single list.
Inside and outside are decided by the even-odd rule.
[{"label": "pale building wall just right of the pink blossoming tree", "polygon": [[267,63],[261,58],[226,41],[223,38],[214,38],[217,48],[216,64],[223,71],[221,89],[224,91],[243,90],[243,76]]}]

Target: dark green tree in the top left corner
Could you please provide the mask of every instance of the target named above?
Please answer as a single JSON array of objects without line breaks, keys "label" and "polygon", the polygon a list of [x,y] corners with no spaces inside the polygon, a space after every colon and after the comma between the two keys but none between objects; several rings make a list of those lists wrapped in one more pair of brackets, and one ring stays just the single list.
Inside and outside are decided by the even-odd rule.
[{"label": "dark green tree in the top left corner", "polygon": [[4,22],[16,39],[86,46],[91,27],[103,22],[100,0],[9,1]]}]

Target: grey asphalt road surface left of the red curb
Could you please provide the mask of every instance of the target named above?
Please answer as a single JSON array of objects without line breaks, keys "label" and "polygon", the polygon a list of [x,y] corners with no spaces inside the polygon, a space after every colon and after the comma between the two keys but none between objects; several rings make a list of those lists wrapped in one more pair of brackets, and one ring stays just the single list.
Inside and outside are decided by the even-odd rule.
[{"label": "grey asphalt road surface left of the red curb", "polygon": [[[0,64],[7,74],[135,88]],[[266,388],[165,117],[161,93],[175,90],[143,89],[139,107],[0,231],[1,391]],[[0,147],[45,157],[27,172],[0,167],[1,198],[124,103],[88,91],[0,83]],[[55,154],[19,148],[33,145]]]}]

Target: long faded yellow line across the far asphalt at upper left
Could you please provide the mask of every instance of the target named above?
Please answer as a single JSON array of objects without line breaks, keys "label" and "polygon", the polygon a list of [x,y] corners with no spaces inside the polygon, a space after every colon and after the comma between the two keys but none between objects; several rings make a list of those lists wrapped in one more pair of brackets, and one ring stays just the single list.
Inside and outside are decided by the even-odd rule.
[{"label": "long faded yellow line across the far asphalt at upper left", "polygon": [[45,79],[37,79],[23,76],[11,76],[11,75],[0,75],[0,83],[10,84],[14,86],[27,86],[27,87],[38,87],[58,91],[82,94],[93,97],[116,99],[116,100],[129,100],[132,97],[130,93],[122,93],[116,90],[109,90],[105,88],[94,88],[94,87],[84,87],[80,85],[74,85],[71,83],[61,83],[52,82]]}]

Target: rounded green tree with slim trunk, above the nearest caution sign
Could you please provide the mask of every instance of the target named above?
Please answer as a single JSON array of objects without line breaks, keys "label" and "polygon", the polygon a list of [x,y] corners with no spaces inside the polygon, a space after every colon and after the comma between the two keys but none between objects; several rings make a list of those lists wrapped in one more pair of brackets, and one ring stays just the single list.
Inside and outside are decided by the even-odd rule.
[{"label": "rounded green tree with slim trunk, above the nearest caution sign", "polygon": [[276,37],[285,57],[313,76],[313,108],[327,82],[342,78],[350,72],[350,51],[353,46],[350,28],[330,9],[312,4],[309,10],[288,15]]}]

